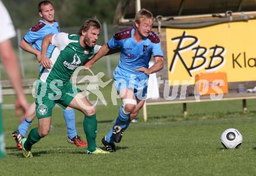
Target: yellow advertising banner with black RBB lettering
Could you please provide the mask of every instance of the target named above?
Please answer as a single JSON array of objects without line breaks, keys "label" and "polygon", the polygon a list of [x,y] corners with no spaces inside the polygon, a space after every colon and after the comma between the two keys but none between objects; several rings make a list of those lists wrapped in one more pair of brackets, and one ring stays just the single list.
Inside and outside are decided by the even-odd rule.
[{"label": "yellow advertising banner with black RBB lettering", "polygon": [[199,73],[225,72],[228,82],[256,81],[256,20],[204,28],[166,28],[170,85]]}]

